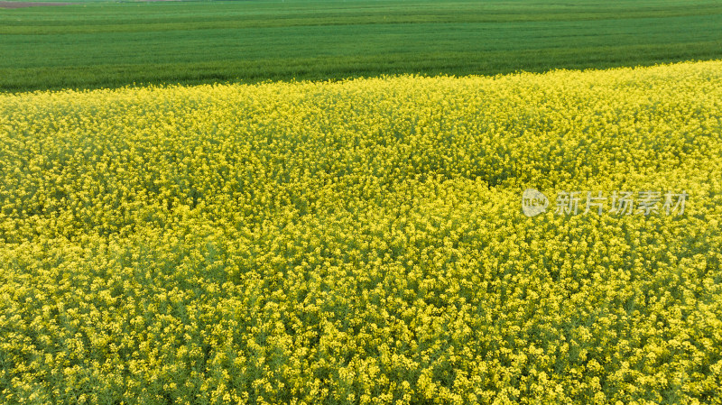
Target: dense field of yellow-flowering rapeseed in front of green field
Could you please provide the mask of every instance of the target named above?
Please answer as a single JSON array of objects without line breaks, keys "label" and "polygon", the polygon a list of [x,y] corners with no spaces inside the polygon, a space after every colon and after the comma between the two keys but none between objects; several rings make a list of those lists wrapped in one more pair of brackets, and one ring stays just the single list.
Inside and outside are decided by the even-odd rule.
[{"label": "dense field of yellow-flowering rapeseed in front of green field", "polygon": [[720,403],[721,262],[722,61],[0,95],[2,403]]}]

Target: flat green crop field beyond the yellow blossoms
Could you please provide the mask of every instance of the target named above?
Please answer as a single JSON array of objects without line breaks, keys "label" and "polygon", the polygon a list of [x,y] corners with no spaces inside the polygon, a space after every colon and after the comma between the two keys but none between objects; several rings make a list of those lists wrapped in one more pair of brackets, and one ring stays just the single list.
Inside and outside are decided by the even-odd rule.
[{"label": "flat green crop field beyond the yellow blossoms", "polygon": [[722,57],[722,2],[224,1],[0,9],[0,90],[497,74]]}]

